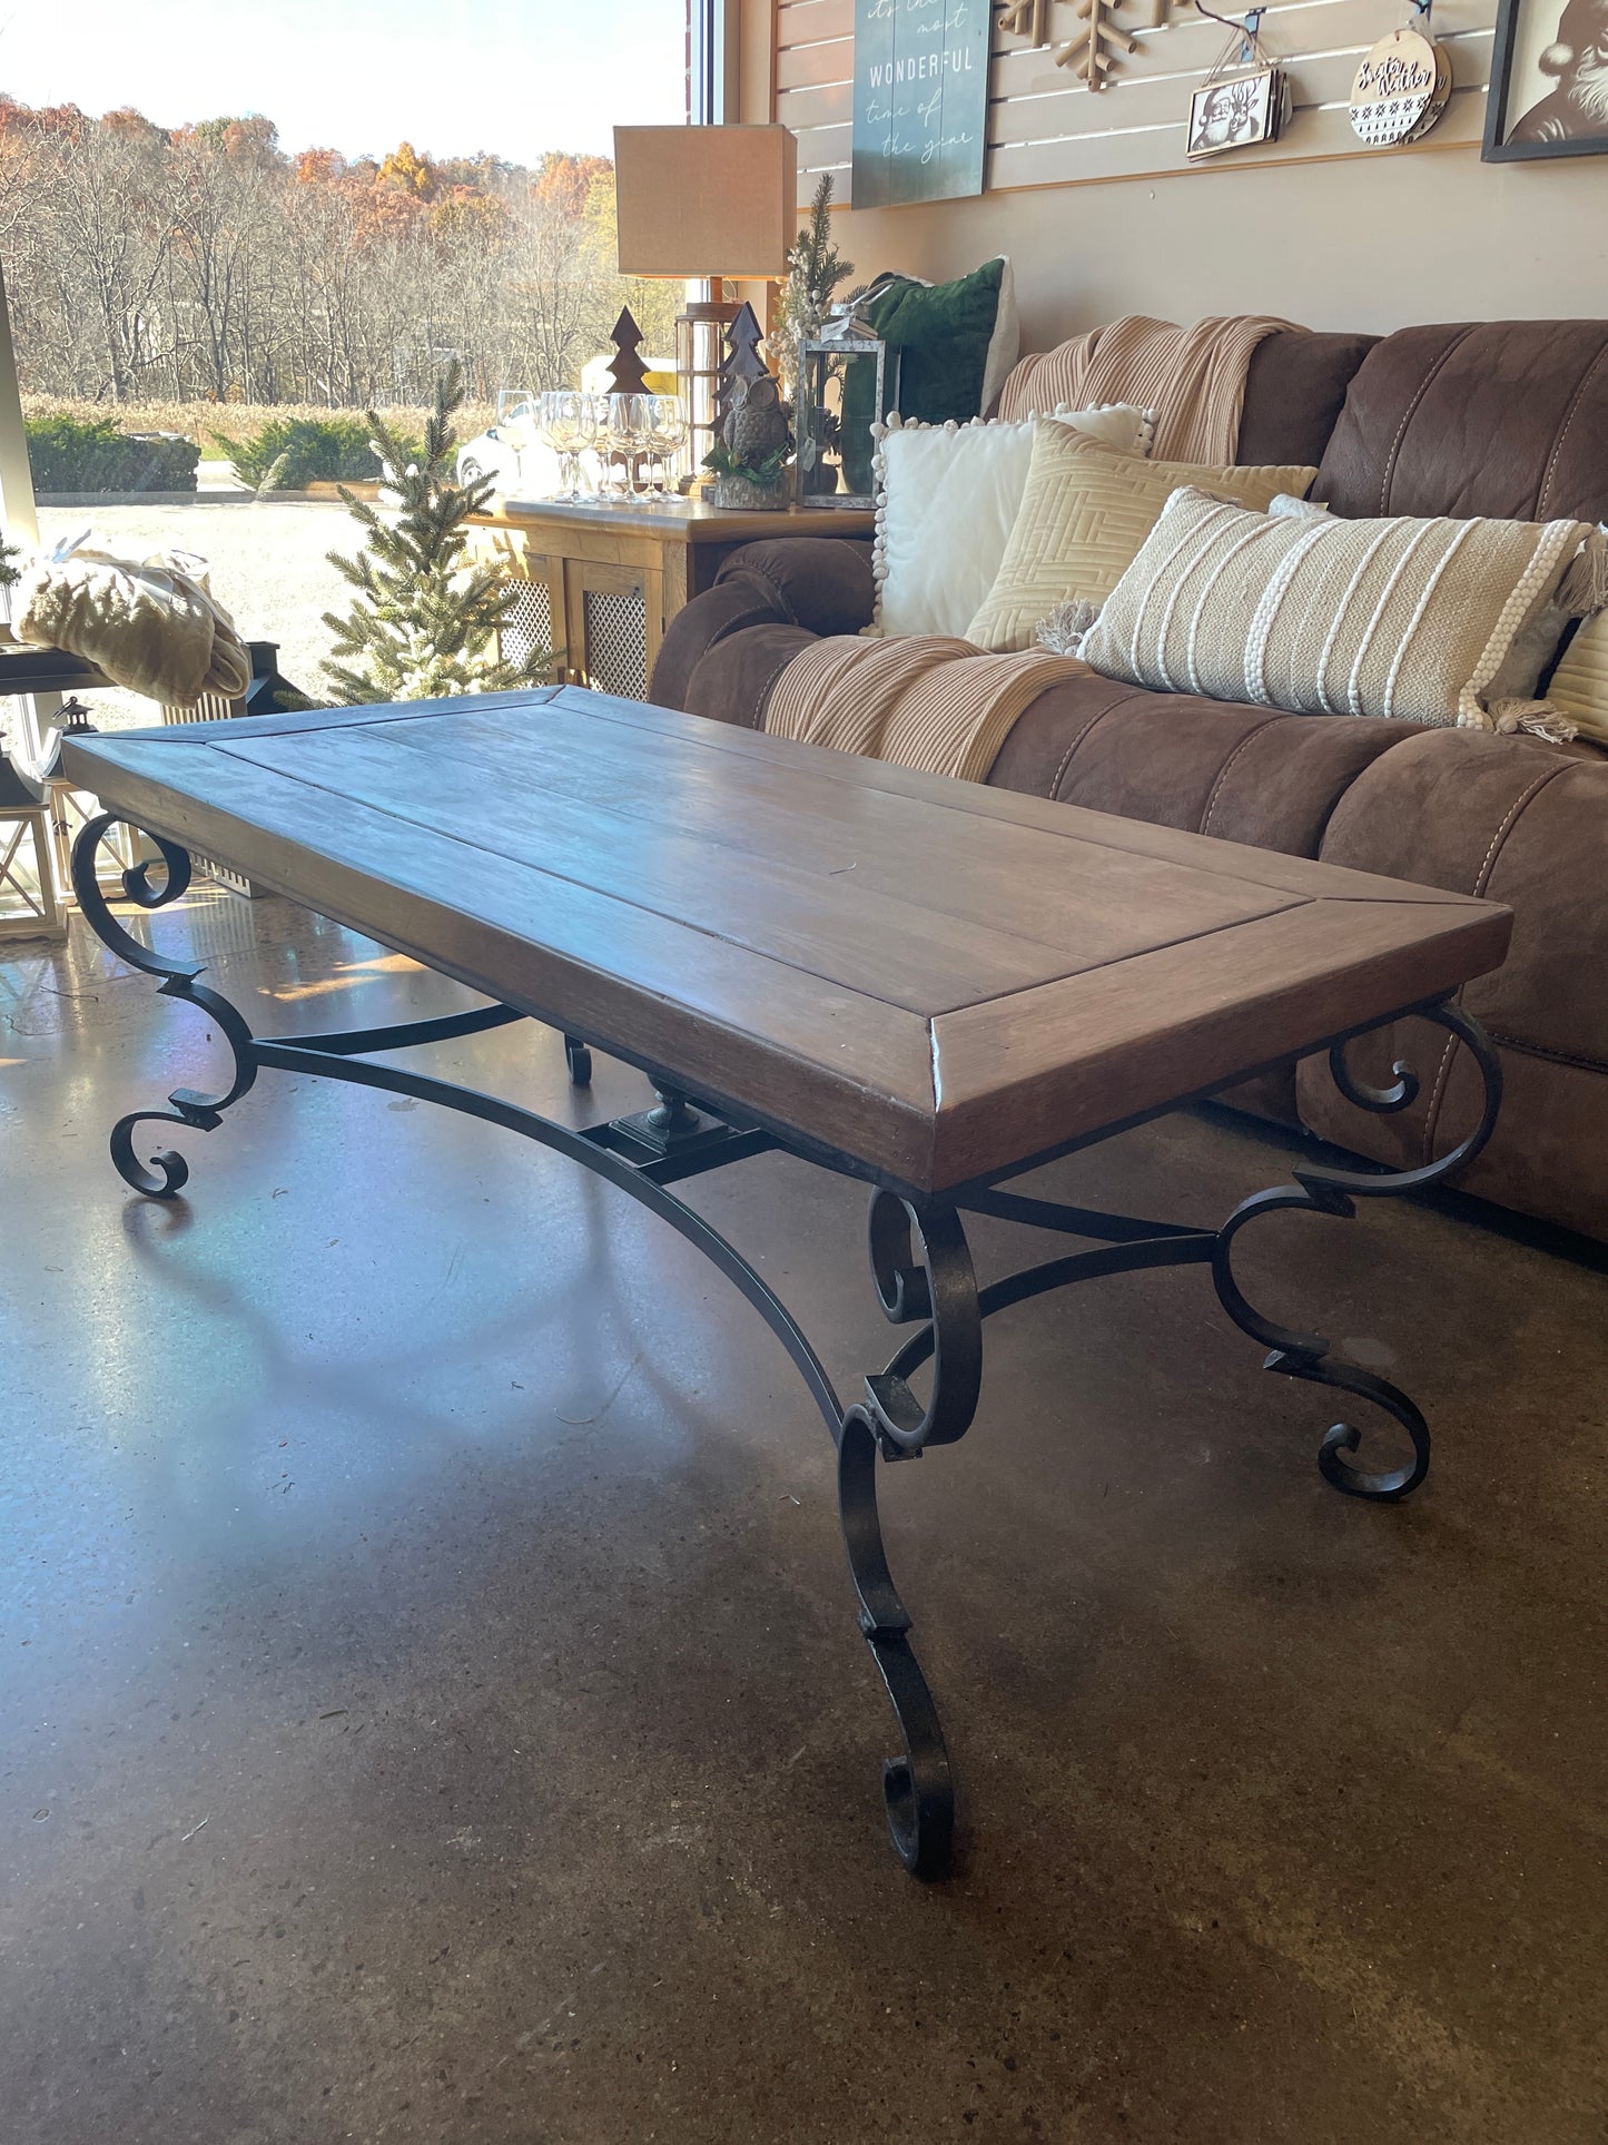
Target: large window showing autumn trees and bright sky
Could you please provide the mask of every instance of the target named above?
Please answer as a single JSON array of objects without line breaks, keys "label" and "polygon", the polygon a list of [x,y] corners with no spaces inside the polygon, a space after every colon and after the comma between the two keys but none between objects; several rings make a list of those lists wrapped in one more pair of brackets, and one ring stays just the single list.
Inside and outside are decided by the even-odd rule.
[{"label": "large window showing autumn trees and bright sky", "polygon": [[[671,350],[675,287],[613,268],[609,150],[613,124],[701,101],[693,69],[716,41],[686,0],[607,17],[262,0],[249,45],[178,0],[81,0],[71,36],[21,11],[4,45],[0,264],[41,536],[92,521],[120,556],[199,553],[307,691],[319,613],[345,596],[326,551],[356,532],[339,504],[244,504],[287,420],[315,427],[274,472],[304,489],[369,470],[367,405],[422,423],[446,360],[470,442],[500,393],[577,384],[622,302],[645,350]],[[0,440],[9,476],[28,536]],[[189,485],[191,504],[161,498]],[[69,493],[96,502],[51,504]],[[152,721],[101,695],[109,714]]]}]

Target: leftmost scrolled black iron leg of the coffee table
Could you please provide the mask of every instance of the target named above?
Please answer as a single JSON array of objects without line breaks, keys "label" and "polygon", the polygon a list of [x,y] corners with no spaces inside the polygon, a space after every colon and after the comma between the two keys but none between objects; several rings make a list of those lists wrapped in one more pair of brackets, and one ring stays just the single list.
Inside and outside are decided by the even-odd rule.
[{"label": "leftmost scrolled black iron leg of the coffee table", "polygon": [[[144,1193],[148,1199],[176,1199],[189,1182],[189,1163],[172,1148],[163,1148],[150,1156],[150,1169],[146,1169],[133,1150],[135,1126],[182,1124],[195,1133],[217,1130],[223,1122],[223,1111],[232,1103],[238,1103],[257,1079],[257,1057],[251,1027],[242,1015],[236,1012],[225,997],[219,997],[217,991],[208,991],[206,985],[195,980],[202,974],[202,963],[169,961],[150,946],[142,946],[133,933],[124,931],[107,907],[94,869],[94,852],[118,824],[129,822],[118,822],[116,813],[101,813],[84,826],[81,834],[73,843],[73,892],[77,894],[79,909],[101,944],[109,946],[120,961],[142,970],[146,976],[163,978],[163,997],[180,997],[187,1004],[197,1006],[217,1025],[234,1057],[234,1079],[223,1094],[199,1094],[195,1088],[176,1088],[167,1096],[167,1109],[139,1109],[120,1118],[118,1124],[111,1126],[111,1163],[122,1182],[131,1184],[137,1193]],[[161,852],[165,879],[161,886],[152,886],[152,867],[133,864],[122,873],[122,892],[126,901],[135,901],[142,909],[161,909],[169,901],[178,901],[189,888],[191,860],[176,843],[163,841],[154,834],[148,839],[154,841]]]}]

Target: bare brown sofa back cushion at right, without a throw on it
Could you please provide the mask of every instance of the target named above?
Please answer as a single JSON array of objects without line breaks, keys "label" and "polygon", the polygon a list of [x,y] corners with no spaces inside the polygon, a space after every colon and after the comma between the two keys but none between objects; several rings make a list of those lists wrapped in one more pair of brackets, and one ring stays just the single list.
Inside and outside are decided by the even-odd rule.
[{"label": "bare brown sofa back cushion at right, without a throw on it", "polygon": [[1387,335],[1346,390],[1312,495],[1340,515],[1608,519],[1608,322]]}]

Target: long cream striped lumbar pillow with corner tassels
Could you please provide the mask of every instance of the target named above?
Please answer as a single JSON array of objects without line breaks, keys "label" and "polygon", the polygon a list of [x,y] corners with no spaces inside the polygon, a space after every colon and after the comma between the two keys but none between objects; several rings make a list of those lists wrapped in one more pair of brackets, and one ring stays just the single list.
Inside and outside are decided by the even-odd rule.
[{"label": "long cream striped lumbar pillow with corner tassels", "polygon": [[1177,491],[1085,635],[1108,678],[1291,714],[1492,729],[1584,521],[1282,519]]}]

